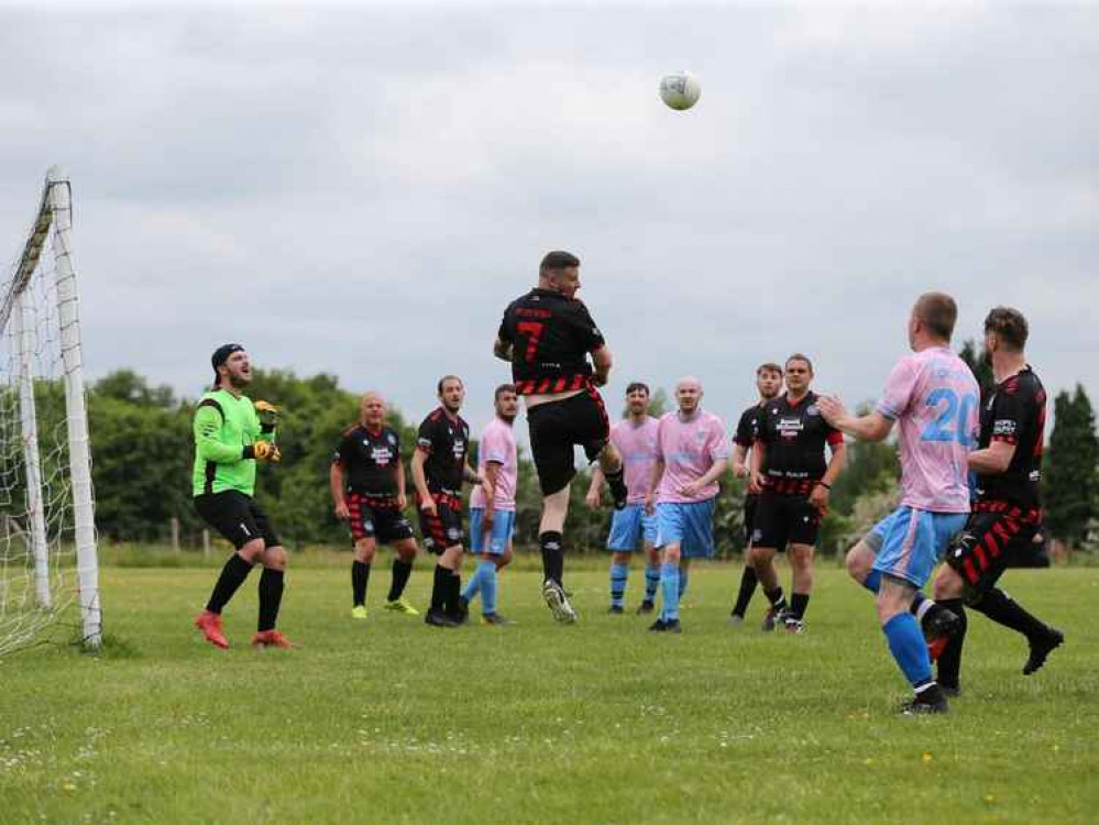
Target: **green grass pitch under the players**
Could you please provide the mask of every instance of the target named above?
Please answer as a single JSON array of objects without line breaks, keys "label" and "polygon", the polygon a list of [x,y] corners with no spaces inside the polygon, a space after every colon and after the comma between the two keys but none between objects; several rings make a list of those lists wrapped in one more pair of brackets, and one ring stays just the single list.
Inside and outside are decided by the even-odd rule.
[{"label": "green grass pitch under the players", "polygon": [[[371,583],[371,606],[388,585]],[[342,564],[290,572],[294,651],[233,648],[190,619],[213,569],[103,571],[112,642],[0,660],[0,821],[355,823],[1069,823],[1099,817],[1099,570],[1011,571],[1068,640],[1023,678],[1024,642],[970,619],[965,694],[904,718],[869,596],[828,566],[804,636],[729,628],[737,570],[696,572],[684,634],[605,614],[569,574],[551,623],[534,571],[501,579],[509,628],[348,616]],[[787,578],[785,573],[783,574]],[[420,566],[410,595],[427,598]],[[641,584],[637,570],[630,596]],[[635,602],[636,603],[636,602]],[[762,610],[757,596],[751,616]]]}]

